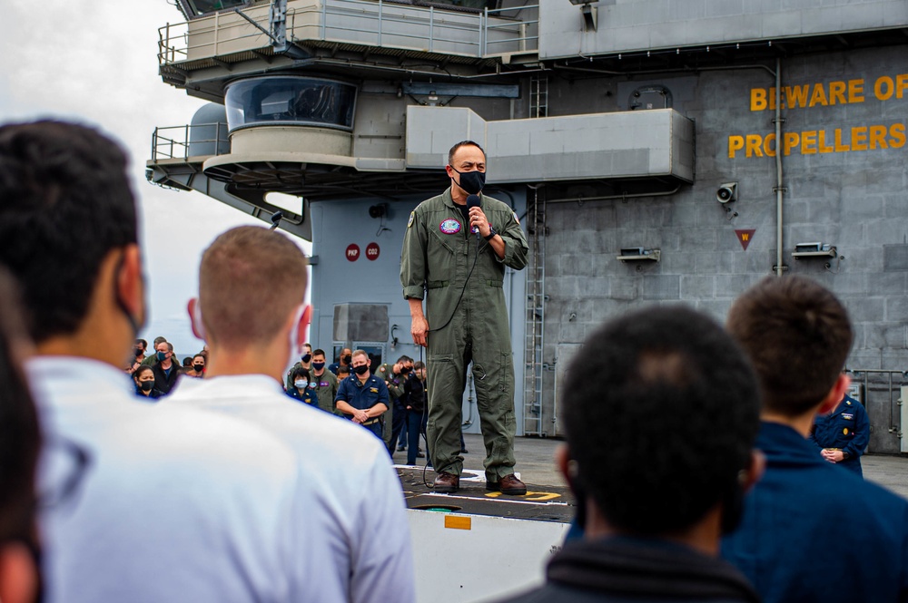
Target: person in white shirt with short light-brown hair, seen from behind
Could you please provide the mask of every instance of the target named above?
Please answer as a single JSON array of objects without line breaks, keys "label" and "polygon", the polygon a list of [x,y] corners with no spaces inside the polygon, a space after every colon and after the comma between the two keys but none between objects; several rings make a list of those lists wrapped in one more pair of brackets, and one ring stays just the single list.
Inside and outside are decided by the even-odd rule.
[{"label": "person in white shirt with short light-brown hair, seen from behind", "polygon": [[[232,414],[276,433],[297,455],[300,483],[315,492],[301,511],[315,531],[300,562],[320,576],[322,601],[414,599],[410,530],[400,479],[380,439],[284,394],[281,378],[305,341],[307,262],[281,233],[228,230],[202,255],[192,326],[208,344],[203,380],[164,403]],[[304,591],[297,600],[308,595]]]}]

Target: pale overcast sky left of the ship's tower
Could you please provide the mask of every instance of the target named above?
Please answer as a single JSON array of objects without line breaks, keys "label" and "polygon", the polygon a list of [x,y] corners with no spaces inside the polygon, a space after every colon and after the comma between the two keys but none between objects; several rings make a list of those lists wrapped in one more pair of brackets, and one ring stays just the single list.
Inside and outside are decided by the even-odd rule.
[{"label": "pale overcast sky left of the ship's tower", "polygon": [[204,104],[157,72],[158,28],[183,15],[168,0],[4,0],[3,8],[0,122],[81,122],[129,151],[150,310],[140,336],[165,336],[181,358],[192,355],[202,341],[192,336],[186,302],[198,293],[202,251],[226,229],[264,223],[201,193],[145,180],[154,128],[189,123]]}]

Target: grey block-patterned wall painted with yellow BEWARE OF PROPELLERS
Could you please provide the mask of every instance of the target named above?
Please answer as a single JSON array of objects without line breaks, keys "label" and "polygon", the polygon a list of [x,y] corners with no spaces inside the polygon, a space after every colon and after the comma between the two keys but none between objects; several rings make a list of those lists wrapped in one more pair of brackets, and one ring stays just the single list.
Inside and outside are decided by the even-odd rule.
[{"label": "grey block-patterned wall painted with yellow BEWARE OF PROPELLERS", "polygon": [[[815,54],[782,65],[784,98],[788,87],[796,97],[807,86],[805,106],[782,112],[786,274],[813,277],[844,301],[855,329],[849,368],[906,370],[904,48]],[[771,73],[569,76],[550,80],[550,115],[622,111],[637,87],[666,86],[676,111],[696,122],[696,182],[659,198],[548,200],[543,361],[556,367],[553,377],[563,375],[558,364],[607,318],[647,304],[686,304],[723,321],[735,297],[775,265],[775,158],[768,154],[775,149],[775,111],[761,109],[761,95],[775,86]],[[729,212],[716,201],[725,182],[738,183]],[[795,244],[809,242],[835,246],[841,259],[795,260]],[[661,261],[617,260],[627,247],[659,248]],[[898,409],[890,408],[888,392],[868,395],[870,450],[899,452]],[[555,398],[547,387],[544,413]]]}]

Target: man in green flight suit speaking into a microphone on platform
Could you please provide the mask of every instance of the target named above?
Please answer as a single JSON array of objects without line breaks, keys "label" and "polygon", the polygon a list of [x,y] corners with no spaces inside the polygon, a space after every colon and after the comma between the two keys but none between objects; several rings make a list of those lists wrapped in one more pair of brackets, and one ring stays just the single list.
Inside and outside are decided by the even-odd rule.
[{"label": "man in green flight suit speaking into a microphone on platform", "polygon": [[438,472],[434,489],[455,492],[460,486],[461,398],[472,361],[486,489],[526,494],[527,486],[514,475],[514,365],[502,285],[506,266],[527,266],[527,238],[513,209],[479,195],[486,172],[479,144],[455,144],[445,169],[450,188],[410,214],[400,255],[410,333],[416,345],[429,348],[427,441]]}]

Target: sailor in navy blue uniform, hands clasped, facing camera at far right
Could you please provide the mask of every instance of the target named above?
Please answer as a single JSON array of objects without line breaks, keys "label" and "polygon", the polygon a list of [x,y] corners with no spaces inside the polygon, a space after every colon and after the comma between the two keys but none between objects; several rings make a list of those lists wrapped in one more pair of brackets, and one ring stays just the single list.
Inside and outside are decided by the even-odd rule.
[{"label": "sailor in navy blue uniform, hands clasped, facing camera at far right", "polygon": [[816,415],[810,440],[826,461],[864,476],[861,455],[870,442],[870,419],[864,404],[845,395],[832,413]]}]

